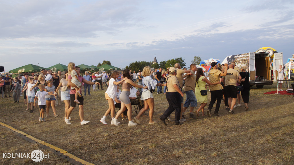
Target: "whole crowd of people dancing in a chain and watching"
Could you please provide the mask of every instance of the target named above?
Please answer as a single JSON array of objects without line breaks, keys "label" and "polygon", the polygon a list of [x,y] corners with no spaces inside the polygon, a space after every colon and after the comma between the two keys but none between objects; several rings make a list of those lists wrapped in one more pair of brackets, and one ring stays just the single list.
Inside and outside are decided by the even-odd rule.
[{"label": "whole crowd of people dancing in a chain and watching", "polygon": [[[172,121],[170,115],[175,111],[174,124],[183,124],[187,121],[184,112],[189,109],[189,117],[194,118],[194,107],[200,103],[199,108],[195,111],[197,117],[199,112],[202,116],[212,116],[212,108],[216,102],[214,116],[219,116],[219,108],[221,100],[225,103],[225,110],[230,114],[234,114],[234,108],[241,106],[240,97],[242,96],[244,102],[244,110],[248,110],[250,85],[249,73],[247,66],[241,68],[235,67],[235,63],[220,65],[216,62],[211,63],[211,70],[202,70],[197,68],[196,64],[191,64],[190,69],[181,68],[180,64],[176,63],[174,67],[162,68],[151,70],[149,66],[139,70],[138,73],[134,70],[125,69],[120,75],[117,71],[112,74],[106,74],[103,71],[91,73],[86,71],[83,77],[80,75],[80,68],[75,66],[74,63],[69,63],[69,70],[64,75],[61,71],[52,73],[52,70],[41,70],[39,75],[24,74],[15,78],[9,77],[6,74],[4,78],[0,77],[0,87],[5,97],[11,97],[13,92],[14,102],[19,102],[20,96],[24,96],[24,103],[27,105],[29,112],[34,112],[36,104],[39,106],[39,121],[45,122],[46,117],[49,117],[49,108],[52,108],[54,117],[56,114],[56,105],[60,105],[61,101],[65,103],[64,121],[66,124],[71,124],[71,112],[79,106],[79,116],[81,125],[89,123],[84,120],[83,116],[83,101],[87,95],[91,96],[90,88],[93,85],[93,91],[96,90],[96,85],[107,87],[105,91],[105,99],[108,102],[108,109],[106,110],[100,122],[107,124],[106,117],[111,114],[111,124],[118,126],[118,118],[128,120],[129,126],[141,124],[140,117],[146,110],[149,110],[149,124],[157,123],[153,120],[154,113],[154,98],[153,92],[158,95],[166,95],[168,101],[167,110],[159,117],[160,120],[166,124],[166,119]],[[3,83],[3,85],[2,85]],[[4,85],[5,83],[5,85]],[[242,85],[242,91],[237,90],[237,86]],[[164,86],[162,92],[162,86]],[[208,109],[205,107],[208,103],[207,88],[209,87],[211,101]],[[82,95],[82,88],[84,87],[84,95]],[[120,87],[122,89],[120,90]],[[138,89],[136,89],[137,87]],[[157,90],[156,90],[157,87]],[[88,90],[87,90],[88,88]],[[184,93],[186,100],[184,101]],[[240,95],[240,97],[238,96]],[[238,99],[238,104],[236,104]],[[139,112],[132,119],[132,105],[138,105]],[[115,115],[115,108],[120,110]]]}]

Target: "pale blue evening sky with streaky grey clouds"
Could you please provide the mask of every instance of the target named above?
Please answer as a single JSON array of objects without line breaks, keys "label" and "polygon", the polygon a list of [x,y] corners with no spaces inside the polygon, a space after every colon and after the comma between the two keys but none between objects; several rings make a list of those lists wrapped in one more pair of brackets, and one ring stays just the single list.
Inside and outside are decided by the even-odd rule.
[{"label": "pale blue evening sky with streaky grey clouds", "polygon": [[202,60],[272,47],[294,53],[294,1],[0,0],[0,65],[124,68],[194,56]]}]

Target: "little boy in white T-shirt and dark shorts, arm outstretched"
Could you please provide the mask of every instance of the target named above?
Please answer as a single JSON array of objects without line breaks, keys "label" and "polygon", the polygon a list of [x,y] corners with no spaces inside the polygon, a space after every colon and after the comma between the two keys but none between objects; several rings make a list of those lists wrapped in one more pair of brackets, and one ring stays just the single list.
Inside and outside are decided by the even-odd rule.
[{"label": "little boy in white T-shirt and dark shorts, arm outstretched", "polygon": [[45,118],[44,118],[44,109],[46,108],[46,95],[53,95],[55,96],[56,94],[53,94],[53,92],[46,92],[44,91],[45,85],[40,84],[39,85],[39,89],[35,95],[35,99],[34,99],[34,106],[36,107],[36,100],[38,100],[38,105],[39,105],[39,109],[40,109],[40,117],[39,117],[39,121],[40,122],[46,122]]}]

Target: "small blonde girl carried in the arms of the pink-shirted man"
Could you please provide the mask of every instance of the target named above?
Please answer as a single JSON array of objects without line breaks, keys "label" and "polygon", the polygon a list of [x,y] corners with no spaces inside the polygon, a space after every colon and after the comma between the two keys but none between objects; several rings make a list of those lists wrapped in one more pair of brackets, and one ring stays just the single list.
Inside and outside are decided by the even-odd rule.
[{"label": "small blonde girl carried in the arms of the pink-shirted man", "polygon": [[81,90],[82,90],[82,83],[80,82],[80,80],[78,79],[78,74],[75,71],[75,64],[74,63],[69,63],[68,65],[68,69],[69,69],[69,74],[71,74],[71,83],[73,83],[74,85],[76,85],[76,87],[71,87],[71,89],[75,89],[76,90],[76,100],[74,100],[74,102],[81,104],[78,101],[78,96],[82,97],[81,95]]}]

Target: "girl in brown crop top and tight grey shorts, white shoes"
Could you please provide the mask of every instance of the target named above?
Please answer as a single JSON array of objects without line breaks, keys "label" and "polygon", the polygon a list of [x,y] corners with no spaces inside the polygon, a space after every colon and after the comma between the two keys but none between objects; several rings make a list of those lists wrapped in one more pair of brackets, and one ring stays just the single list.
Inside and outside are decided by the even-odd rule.
[{"label": "girl in brown crop top and tight grey shorts, white shoes", "polygon": [[132,105],[131,105],[131,100],[129,98],[130,89],[131,89],[131,86],[144,88],[144,89],[146,89],[147,87],[143,87],[143,85],[138,85],[134,83],[133,79],[131,78],[130,70],[128,69],[123,70],[123,77],[127,79],[123,82],[121,95],[119,95],[119,98],[121,99],[121,109],[116,113],[116,117],[113,120],[111,120],[111,124],[118,126],[118,123],[117,123],[118,117],[126,110],[126,108],[128,108],[128,120],[129,120],[128,125],[134,126],[134,125],[137,125],[137,123],[132,122]]}]

